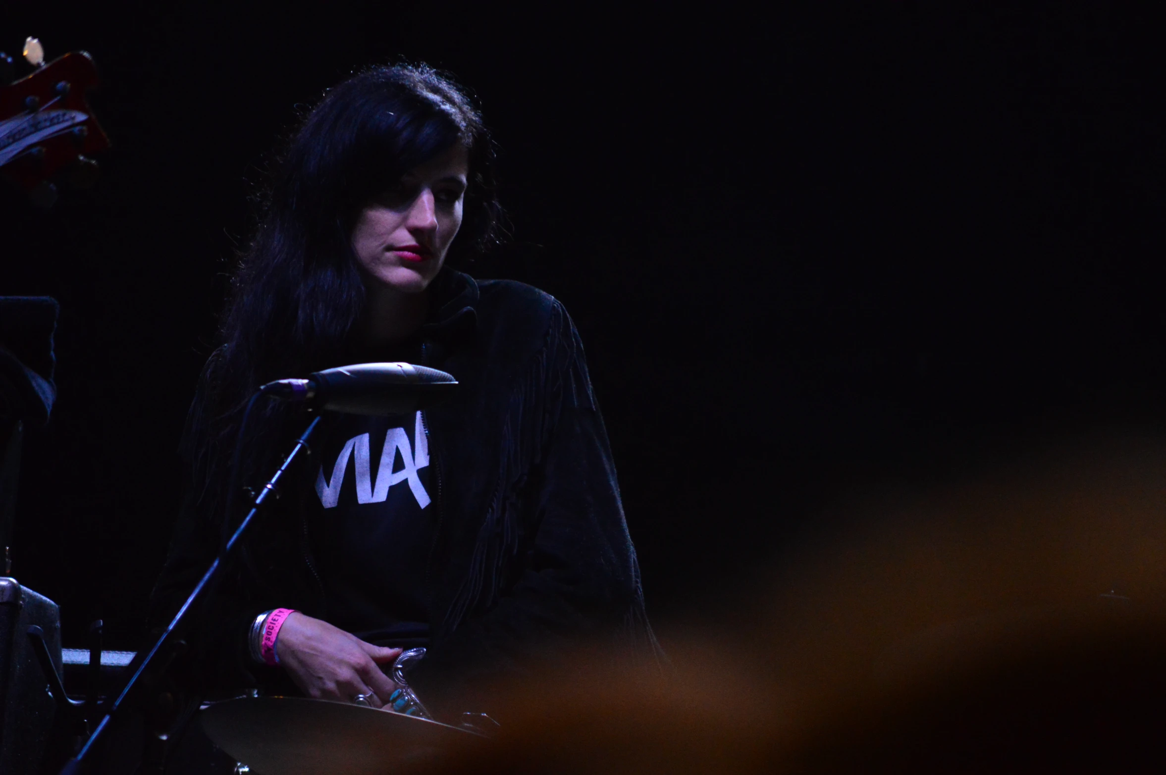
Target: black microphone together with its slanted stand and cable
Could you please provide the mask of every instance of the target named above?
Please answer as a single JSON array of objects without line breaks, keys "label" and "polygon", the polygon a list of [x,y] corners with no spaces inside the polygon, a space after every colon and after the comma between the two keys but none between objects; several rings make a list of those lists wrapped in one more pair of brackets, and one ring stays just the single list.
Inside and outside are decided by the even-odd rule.
[{"label": "black microphone together with its slanted stand and cable", "polygon": [[[351,376],[352,374],[358,376]],[[368,376],[372,374],[379,374],[380,376]],[[422,381],[421,375],[423,375],[424,381]],[[357,414],[398,414],[402,408],[415,410],[415,408],[422,404],[431,404],[438,395],[441,397],[448,396],[449,392],[457,386],[457,381],[450,374],[423,366],[413,366],[410,364],[358,364],[328,369],[326,372],[317,372],[311,374],[308,380],[280,380],[279,382],[268,383],[260,388],[251,400],[247,413],[251,411],[257,397],[271,395],[283,389],[282,387],[273,388],[273,385],[300,386],[301,383],[303,385],[301,400],[310,402],[317,395],[317,393],[312,393],[310,396],[307,395],[308,387],[314,385],[321,396],[318,407],[353,407],[358,410],[356,411]],[[339,385],[342,387],[337,389],[337,393],[330,393],[332,389],[331,385]],[[441,394],[433,390],[433,385],[443,386]],[[295,390],[298,387],[290,389]],[[409,397],[410,392],[413,393],[413,397]],[[339,395],[342,399],[330,401],[328,399],[329,395]],[[311,406],[309,403],[309,407]],[[374,411],[374,409],[377,410]],[[311,438],[312,432],[319,425],[319,416],[312,418],[272,478],[258,489],[258,494],[252,501],[247,515],[239,523],[239,527],[236,528],[234,533],[231,534],[231,537],[219,551],[218,557],[215,558],[202,579],[195,585],[187,601],[182,604],[182,607],[162,632],[162,635],[145,653],[129,681],[126,682],[126,685],[118,693],[113,703],[106,707],[105,716],[97,724],[92,735],[85,741],[79,753],[73,759],[70,759],[61,770],[62,775],[84,772],[85,762],[94,754],[101,740],[108,734],[114,719],[124,712],[125,707],[132,704],[139,692],[143,692],[146,686],[159,682],[173,658],[185,649],[185,642],[182,640],[182,636],[192,626],[191,619],[195,615],[192,612],[196,610],[204,612],[206,610],[205,603],[213,596],[226,568],[241,545],[241,540],[247,533],[247,528],[255,521],[260,510],[268,501],[273,499],[273,493],[276,492],[280,481],[287,474],[293,462],[295,462],[301,452],[308,449],[308,439]],[[245,427],[247,417],[245,415],[240,421],[240,427]],[[234,455],[236,466],[238,465],[241,438],[243,435],[240,434],[240,443],[237,444]],[[233,474],[234,472],[232,472]],[[329,770],[325,769],[324,772]]]}]

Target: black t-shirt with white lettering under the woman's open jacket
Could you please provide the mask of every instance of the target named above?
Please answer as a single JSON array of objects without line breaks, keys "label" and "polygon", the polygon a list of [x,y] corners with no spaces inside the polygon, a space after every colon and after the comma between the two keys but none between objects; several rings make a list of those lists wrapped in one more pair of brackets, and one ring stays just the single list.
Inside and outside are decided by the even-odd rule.
[{"label": "black t-shirt with white lettering under the woman's open jacket", "polygon": [[371,643],[426,646],[437,493],[424,417],[335,415],[322,430],[310,523],[328,620]]}]

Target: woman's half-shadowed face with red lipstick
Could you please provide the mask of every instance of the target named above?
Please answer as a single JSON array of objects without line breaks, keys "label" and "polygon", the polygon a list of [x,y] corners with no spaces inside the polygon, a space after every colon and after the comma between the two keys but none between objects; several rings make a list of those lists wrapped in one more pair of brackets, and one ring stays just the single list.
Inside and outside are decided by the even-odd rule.
[{"label": "woman's half-shadowed face with red lipstick", "polygon": [[420,164],[360,211],[352,248],[365,282],[420,294],[462,226],[469,152],[462,143]]}]

